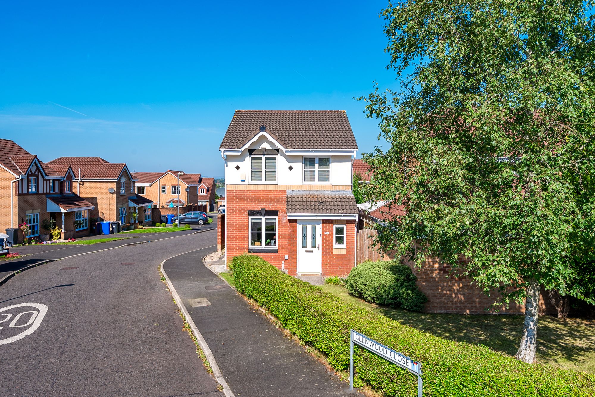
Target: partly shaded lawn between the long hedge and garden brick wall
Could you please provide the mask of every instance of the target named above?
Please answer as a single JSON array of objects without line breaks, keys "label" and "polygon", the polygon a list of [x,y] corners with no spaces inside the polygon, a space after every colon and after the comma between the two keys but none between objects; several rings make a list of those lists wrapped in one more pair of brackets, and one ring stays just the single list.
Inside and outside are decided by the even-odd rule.
[{"label": "partly shaded lawn between the long hedge and garden brick wall", "polygon": [[[324,284],[321,287],[345,302],[444,339],[484,345],[508,355],[515,355],[521,340],[524,321],[521,315],[408,312],[367,303],[351,296],[341,285]],[[595,321],[541,316],[537,331],[537,360],[560,368],[595,373]]]}]

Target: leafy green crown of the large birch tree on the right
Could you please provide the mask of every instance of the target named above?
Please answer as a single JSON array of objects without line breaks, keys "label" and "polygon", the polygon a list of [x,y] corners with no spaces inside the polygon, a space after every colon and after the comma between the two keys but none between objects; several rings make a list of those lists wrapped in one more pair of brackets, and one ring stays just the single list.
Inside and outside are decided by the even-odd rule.
[{"label": "leafy green crown of the large birch tree on the right", "polygon": [[505,302],[522,302],[530,280],[585,299],[572,264],[594,253],[593,11],[389,4],[386,51],[402,86],[361,98],[390,144],[364,155],[366,199],[407,211],[380,226],[385,251],[417,265],[440,256]]}]

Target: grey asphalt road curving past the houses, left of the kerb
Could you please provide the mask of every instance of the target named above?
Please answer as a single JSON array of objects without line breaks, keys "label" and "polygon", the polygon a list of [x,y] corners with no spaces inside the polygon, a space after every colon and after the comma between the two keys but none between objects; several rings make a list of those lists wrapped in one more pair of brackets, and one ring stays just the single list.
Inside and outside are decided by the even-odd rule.
[{"label": "grey asphalt road curving past the houses, left of the kerb", "polygon": [[[46,263],[0,286],[0,394],[222,396],[158,274],[173,255],[214,250],[216,232],[171,234]],[[21,303],[37,305],[7,309]]]}]

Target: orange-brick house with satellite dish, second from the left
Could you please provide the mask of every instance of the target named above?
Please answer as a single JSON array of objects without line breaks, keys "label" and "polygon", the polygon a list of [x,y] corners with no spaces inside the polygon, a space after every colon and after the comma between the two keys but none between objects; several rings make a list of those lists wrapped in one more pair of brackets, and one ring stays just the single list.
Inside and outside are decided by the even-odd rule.
[{"label": "orange-brick house with satellite dish, second from the left", "polygon": [[93,204],[92,218],[117,221],[121,226],[152,223],[153,201],[136,194],[136,181],[126,163],[110,163],[101,157],[59,157],[48,164],[70,165],[73,191]]}]

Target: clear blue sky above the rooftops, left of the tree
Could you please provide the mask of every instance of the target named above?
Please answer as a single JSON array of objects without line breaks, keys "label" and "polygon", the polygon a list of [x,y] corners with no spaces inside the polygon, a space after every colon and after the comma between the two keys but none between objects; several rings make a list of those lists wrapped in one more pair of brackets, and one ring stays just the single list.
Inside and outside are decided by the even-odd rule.
[{"label": "clear blue sky above the rooftops, left of the tree", "polygon": [[219,177],[235,109],[340,109],[371,151],[377,121],[353,97],[396,88],[386,4],[3,2],[0,137],[43,161]]}]

